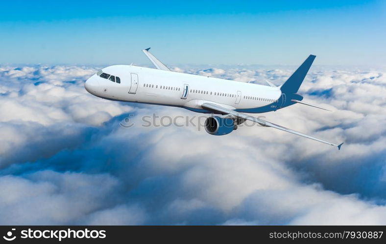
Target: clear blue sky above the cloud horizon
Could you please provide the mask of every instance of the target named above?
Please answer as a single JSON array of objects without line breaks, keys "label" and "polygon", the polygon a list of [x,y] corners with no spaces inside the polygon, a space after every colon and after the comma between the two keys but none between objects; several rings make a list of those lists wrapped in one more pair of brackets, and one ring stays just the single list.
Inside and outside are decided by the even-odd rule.
[{"label": "clear blue sky above the cloud horizon", "polygon": [[3,2],[0,63],[386,65],[378,0]]}]

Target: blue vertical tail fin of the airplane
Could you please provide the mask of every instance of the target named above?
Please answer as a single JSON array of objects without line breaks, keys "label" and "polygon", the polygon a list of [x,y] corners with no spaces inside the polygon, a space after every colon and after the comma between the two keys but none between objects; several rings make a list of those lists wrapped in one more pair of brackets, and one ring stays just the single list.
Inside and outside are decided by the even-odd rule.
[{"label": "blue vertical tail fin of the airplane", "polygon": [[315,55],[310,55],[306,61],[300,65],[299,68],[288,78],[286,82],[280,87],[282,93],[293,94],[299,90],[300,85],[302,84],[304,78],[307,75],[308,70],[314,62]]}]

